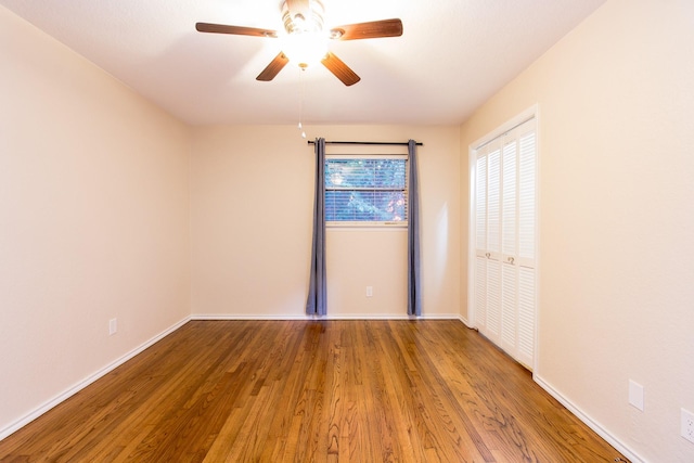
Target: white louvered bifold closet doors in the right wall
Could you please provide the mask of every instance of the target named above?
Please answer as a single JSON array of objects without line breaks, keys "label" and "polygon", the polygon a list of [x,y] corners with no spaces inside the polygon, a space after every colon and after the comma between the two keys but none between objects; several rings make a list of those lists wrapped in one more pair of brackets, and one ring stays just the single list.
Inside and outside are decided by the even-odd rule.
[{"label": "white louvered bifold closet doors in the right wall", "polygon": [[477,151],[475,321],[526,366],[535,357],[535,120]]}]

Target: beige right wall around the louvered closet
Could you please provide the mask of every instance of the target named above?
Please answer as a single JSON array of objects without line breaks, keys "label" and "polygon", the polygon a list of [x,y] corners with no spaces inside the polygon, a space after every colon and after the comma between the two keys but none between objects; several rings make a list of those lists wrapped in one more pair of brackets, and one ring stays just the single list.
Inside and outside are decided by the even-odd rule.
[{"label": "beige right wall around the louvered closet", "polygon": [[611,0],[461,130],[539,104],[536,377],[653,462],[694,461],[692,43],[694,2]]}]

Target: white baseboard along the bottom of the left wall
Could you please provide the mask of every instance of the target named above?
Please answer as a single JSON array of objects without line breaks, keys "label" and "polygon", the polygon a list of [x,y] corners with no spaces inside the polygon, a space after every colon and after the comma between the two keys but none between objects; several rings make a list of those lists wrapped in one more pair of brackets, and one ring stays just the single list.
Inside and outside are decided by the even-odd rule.
[{"label": "white baseboard along the bottom of the left wall", "polygon": [[14,421],[13,423],[10,423],[8,426],[1,428],[0,429],[0,440],[4,439],[5,437],[10,436],[11,434],[17,432],[20,428],[26,426],[27,424],[29,424],[30,422],[33,422],[37,417],[41,416],[43,413],[48,412],[53,407],[60,404],[61,402],[64,402],[65,400],[67,400],[68,398],[70,398],[75,394],[79,393],[85,387],[89,386],[90,384],[92,384],[93,382],[99,380],[100,377],[104,376],[105,374],[107,374],[107,373],[112,372],[113,370],[115,370],[116,368],[120,366],[121,364],[124,364],[125,362],[127,362],[128,360],[130,360],[131,358],[137,356],[138,353],[142,352],[147,347],[154,345],[155,343],[157,343],[162,338],[164,338],[164,337],[168,336],[169,334],[174,333],[176,330],[178,330],[179,327],[183,326],[188,321],[190,321],[190,317],[184,318],[183,320],[179,321],[178,323],[174,324],[172,326],[170,326],[167,330],[163,331],[162,333],[157,334],[153,338],[146,340],[145,343],[143,343],[140,346],[136,347],[134,349],[130,350],[125,356],[114,360],[113,362],[108,363],[106,366],[102,368],[101,370],[99,370],[95,373],[89,375],[85,380],[80,381],[79,383],[73,385],[68,389],[64,390],[63,393],[59,394],[57,396],[55,396],[52,399],[48,400],[47,402],[42,403],[41,406],[39,406],[38,408],[33,410],[28,414],[26,414],[26,415],[22,416],[21,419]]}]

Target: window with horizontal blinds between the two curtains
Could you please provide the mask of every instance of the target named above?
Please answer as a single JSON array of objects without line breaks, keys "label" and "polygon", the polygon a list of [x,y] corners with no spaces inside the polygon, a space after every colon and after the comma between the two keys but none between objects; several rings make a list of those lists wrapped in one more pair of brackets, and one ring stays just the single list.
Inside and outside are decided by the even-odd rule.
[{"label": "window with horizontal blinds between the two curtains", "polygon": [[407,156],[325,156],[330,224],[406,226],[407,196]]}]

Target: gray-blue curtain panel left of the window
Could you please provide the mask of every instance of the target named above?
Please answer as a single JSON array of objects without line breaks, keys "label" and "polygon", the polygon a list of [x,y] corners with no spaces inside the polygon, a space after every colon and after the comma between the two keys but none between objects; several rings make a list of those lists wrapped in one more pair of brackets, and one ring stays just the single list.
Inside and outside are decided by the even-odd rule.
[{"label": "gray-blue curtain panel left of the window", "polygon": [[325,278],[325,139],[316,139],[316,198],[313,201],[313,245],[306,313],[327,313]]}]

